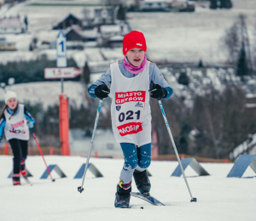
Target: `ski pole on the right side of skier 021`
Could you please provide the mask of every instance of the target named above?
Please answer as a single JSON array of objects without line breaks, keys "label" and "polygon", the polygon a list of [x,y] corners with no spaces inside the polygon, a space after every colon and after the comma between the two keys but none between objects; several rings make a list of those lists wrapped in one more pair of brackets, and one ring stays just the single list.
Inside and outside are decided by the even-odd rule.
[{"label": "ski pole on the right side of skier 021", "polygon": [[188,190],[189,190],[189,195],[191,196],[191,202],[192,202],[192,201],[196,201],[196,198],[193,198],[193,196],[192,196],[192,194],[191,194],[191,191],[190,191],[190,189],[189,189],[189,184],[188,184],[186,175],[185,175],[184,170],[183,170],[183,165],[181,164],[181,161],[180,161],[180,159],[179,159],[179,156],[178,156],[178,153],[177,153],[177,148],[176,148],[175,142],[174,142],[174,140],[173,140],[173,138],[172,138],[172,132],[171,132],[171,129],[170,129],[170,127],[169,127],[169,123],[167,122],[166,113],[165,113],[165,111],[164,111],[164,107],[163,107],[162,102],[161,102],[160,99],[158,99],[158,103],[159,103],[159,105],[160,105],[160,110],[162,111],[162,115],[163,115],[164,120],[165,120],[165,122],[166,122],[166,128],[167,128],[167,131],[168,131],[168,133],[169,133],[170,139],[171,139],[171,141],[172,141],[172,147],[173,147],[173,149],[174,149],[174,151],[175,151],[175,154],[176,154],[176,157],[177,157],[177,161],[178,161],[179,167],[180,167],[181,170],[182,170],[183,178],[184,178],[185,183],[187,184],[187,187],[188,187]]}]

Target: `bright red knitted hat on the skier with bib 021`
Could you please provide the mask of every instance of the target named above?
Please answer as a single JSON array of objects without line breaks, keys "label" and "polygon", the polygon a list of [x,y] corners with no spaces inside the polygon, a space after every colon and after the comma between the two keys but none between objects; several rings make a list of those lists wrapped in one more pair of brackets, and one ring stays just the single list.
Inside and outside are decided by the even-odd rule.
[{"label": "bright red knitted hat on the skier with bib 021", "polygon": [[131,48],[142,48],[147,51],[146,39],[142,32],[131,31],[125,35],[123,40],[123,54],[125,55]]}]

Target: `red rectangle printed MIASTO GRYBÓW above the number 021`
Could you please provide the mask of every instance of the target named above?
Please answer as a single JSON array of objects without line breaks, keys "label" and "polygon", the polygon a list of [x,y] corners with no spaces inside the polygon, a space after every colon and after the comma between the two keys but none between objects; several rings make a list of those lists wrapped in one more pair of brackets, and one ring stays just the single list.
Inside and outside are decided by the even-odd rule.
[{"label": "red rectangle printed MIASTO GRYB\u00d3W above the number 021", "polygon": [[142,101],[145,102],[146,92],[145,91],[128,91],[128,92],[116,92],[115,93],[115,104],[121,105],[131,101]]}]

